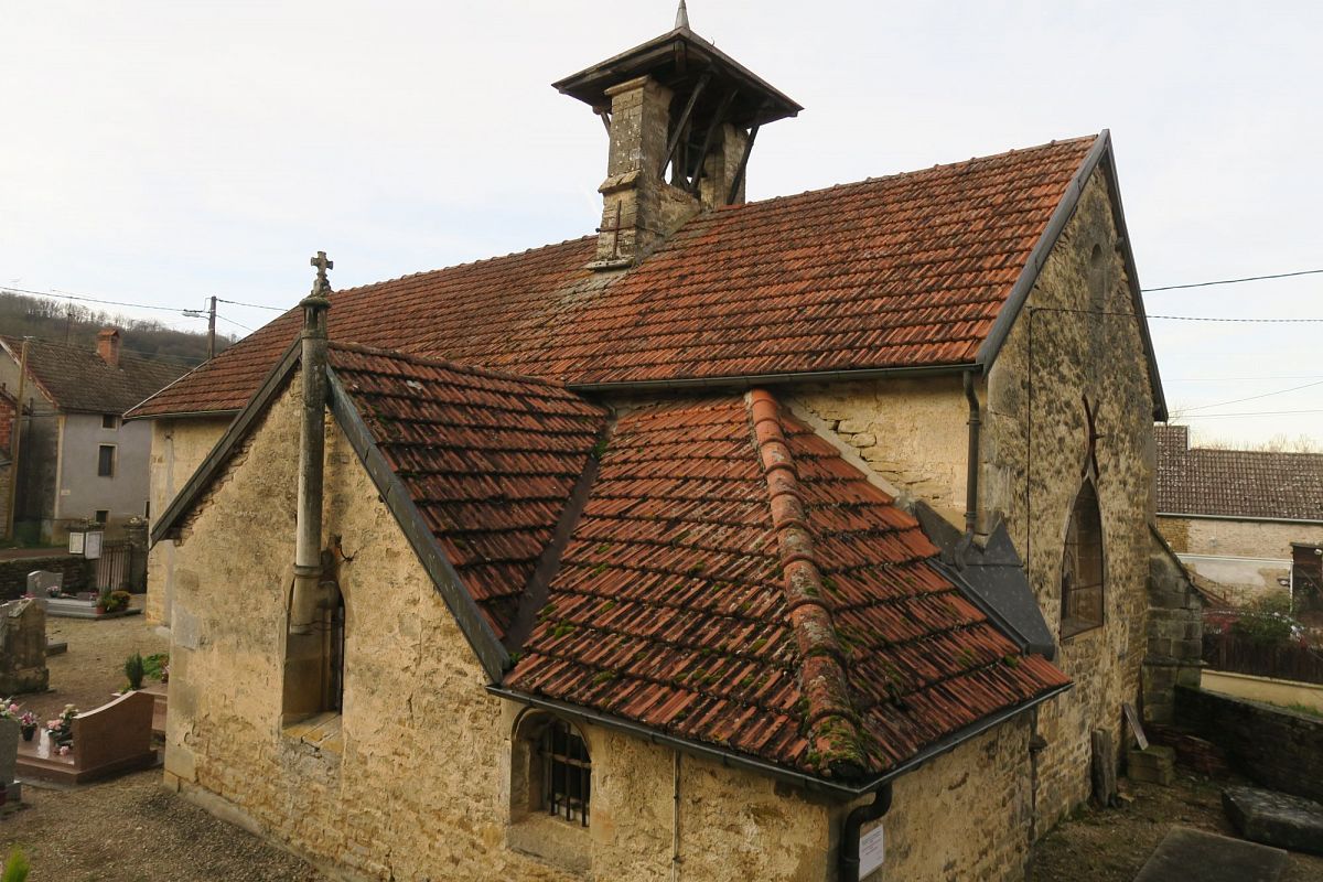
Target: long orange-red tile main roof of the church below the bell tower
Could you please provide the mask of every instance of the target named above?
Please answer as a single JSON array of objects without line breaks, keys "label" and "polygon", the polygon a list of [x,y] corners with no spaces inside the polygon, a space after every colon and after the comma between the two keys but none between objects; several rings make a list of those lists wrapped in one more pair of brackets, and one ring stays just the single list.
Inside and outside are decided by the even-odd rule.
[{"label": "long orange-red tile main roof of the church below the bell tower", "polygon": [[[1095,143],[710,212],[614,282],[585,238],[341,291],[331,333],[569,383],[968,364]],[[277,319],[135,415],[241,407],[296,331]]]}]

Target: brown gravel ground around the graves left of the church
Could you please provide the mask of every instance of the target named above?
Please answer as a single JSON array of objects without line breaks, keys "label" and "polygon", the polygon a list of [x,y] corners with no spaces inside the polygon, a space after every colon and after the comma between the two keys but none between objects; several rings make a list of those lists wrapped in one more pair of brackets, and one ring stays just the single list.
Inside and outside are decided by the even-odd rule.
[{"label": "brown gravel ground around the graves left of the church", "polygon": [[[140,606],[142,598],[135,596]],[[46,637],[67,640],[52,656],[50,692],[19,696],[48,719],[66,703],[98,707],[124,685],[124,657],[168,644],[143,616],[48,619]],[[163,789],[159,768],[74,789],[24,787],[26,808],[0,822],[0,857],[20,845],[30,882],[321,882],[299,858],[220,821]]]}]

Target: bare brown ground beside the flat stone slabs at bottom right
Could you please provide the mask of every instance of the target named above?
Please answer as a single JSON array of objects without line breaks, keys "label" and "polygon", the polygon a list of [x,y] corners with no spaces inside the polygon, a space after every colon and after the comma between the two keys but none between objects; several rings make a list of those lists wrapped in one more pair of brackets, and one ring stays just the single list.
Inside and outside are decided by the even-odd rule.
[{"label": "bare brown ground beside the flat stone slabs at bottom right", "polygon": [[[1172,787],[1127,782],[1129,808],[1076,812],[1033,850],[1031,882],[1131,882],[1172,825],[1236,837],[1222,813],[1228,782],[1177,775]],[[1323,857],[1291,853],[1282,882],[1319,882]]]}]

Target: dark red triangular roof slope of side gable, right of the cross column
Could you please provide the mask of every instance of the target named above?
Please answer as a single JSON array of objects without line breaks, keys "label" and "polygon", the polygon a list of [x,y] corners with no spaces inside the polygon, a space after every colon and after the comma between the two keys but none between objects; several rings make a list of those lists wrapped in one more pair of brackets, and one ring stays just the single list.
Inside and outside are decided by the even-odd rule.
[{"label": "dark red triangular roof slope of side gable, right of the cross column", "polygon": [[333,344],[331,368],[504,637],[606,411],[565,389]]}]

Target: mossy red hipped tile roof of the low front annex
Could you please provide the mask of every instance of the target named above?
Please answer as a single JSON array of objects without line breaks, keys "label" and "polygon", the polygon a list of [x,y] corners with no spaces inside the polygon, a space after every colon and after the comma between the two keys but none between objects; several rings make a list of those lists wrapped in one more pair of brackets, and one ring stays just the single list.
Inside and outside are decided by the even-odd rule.
[{"label": "mossy red hipped tile roof of the low front annex", "polygon": [[826,778],[1065,685],[766,393],[623,414],[505,685]]}]

